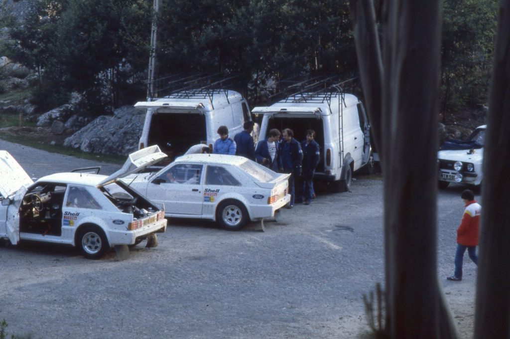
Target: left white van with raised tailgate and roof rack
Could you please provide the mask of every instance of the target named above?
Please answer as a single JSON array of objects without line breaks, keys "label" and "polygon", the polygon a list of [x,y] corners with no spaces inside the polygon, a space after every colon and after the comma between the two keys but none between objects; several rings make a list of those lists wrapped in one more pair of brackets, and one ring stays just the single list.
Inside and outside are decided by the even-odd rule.
[{"label": "left white van with raised tailgate and roof rack", "polygon": [[211,149],[219,137],[218,127],[226,126],[231,138],[251,120],[243,96],[227,89],[193,89],[179,91],[155,101],[138,102],[147,109],[139,149],[157,144],[169,161],[183,155],[197,143]]}]

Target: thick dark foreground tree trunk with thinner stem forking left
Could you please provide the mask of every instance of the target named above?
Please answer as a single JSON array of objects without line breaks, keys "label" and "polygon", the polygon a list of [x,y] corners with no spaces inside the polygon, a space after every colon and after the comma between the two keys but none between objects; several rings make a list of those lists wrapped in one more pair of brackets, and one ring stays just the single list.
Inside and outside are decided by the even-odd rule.
[{"label": "thick dark foreground tree trunk with thinner stem forking left", "polygon": [[[391,338],[453,338],[436,273],[438,1],[390,1],[384,52],[371,1],[351,1],[356,51],[384,175],[385,276]],[[370,44],[364,44],[364,38]],[[375,59],[376,66],[369,60]],[[380,80],[380,96],[373,80]],[[378,101],[380,98],[380,101]],[[377,109],[380,108],[380,111]],[[382,142],[384,140],[384,142]],[[416,307],[419,305],[419,307]]]}]

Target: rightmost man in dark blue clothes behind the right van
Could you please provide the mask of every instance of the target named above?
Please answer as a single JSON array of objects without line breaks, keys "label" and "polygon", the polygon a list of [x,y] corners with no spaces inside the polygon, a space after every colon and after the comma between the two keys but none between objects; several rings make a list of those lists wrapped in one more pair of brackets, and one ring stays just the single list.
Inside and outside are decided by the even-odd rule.
[{"label": "rightmost man in dark blue clothes behind the right van", "polygon": [[[307,131],[307,139],[301,142],[303,150],[303,176],[301,195],[304,195],[304,204],[310,205],[314,192],[314,174],[315,168],[319,164],[320,149],[319,144],[314,140],[315,131]],[[301,196],[301,200],[302,200]]]}]

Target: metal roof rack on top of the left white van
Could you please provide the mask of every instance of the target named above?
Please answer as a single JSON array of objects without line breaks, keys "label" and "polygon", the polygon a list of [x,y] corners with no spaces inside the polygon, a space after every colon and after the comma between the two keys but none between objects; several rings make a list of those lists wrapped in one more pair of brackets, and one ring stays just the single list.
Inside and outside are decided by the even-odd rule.
[{"label": "metal roof rack on top of the left white van", "polygon": [[148,82],[147,101],[157,98],[209,99],[212,104],[214,94],[223,93],[228,100],[228,90],[241,87],[239,75],[179,73]]}]

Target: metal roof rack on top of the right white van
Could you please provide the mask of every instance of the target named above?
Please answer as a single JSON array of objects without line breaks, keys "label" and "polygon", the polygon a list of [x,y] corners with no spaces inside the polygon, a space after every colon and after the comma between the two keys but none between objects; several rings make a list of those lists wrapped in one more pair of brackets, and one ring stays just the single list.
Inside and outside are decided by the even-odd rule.
[{"label": "metal roof rack on top of the right white van", "polygon": [[283,100],[286,103],[324,103],[331,105],[331,98],[340,95],[345,105],[345,90],[356,89],[355,80],[340,81],[338,76],[315,76],[295,81],[295,77],[275,83],[274,87],[264,87],[266,98],[270,102]]}]

